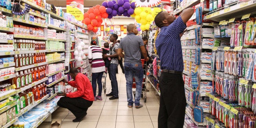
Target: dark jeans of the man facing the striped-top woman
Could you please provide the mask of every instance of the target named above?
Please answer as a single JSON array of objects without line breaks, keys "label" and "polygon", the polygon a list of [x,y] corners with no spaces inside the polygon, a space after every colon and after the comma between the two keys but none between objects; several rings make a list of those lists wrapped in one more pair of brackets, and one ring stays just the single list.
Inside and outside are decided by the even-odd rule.
[{"label": "dark jeans of the man facing the striped-top woman", "polygon": [[111,80],[111,94],[118,97],[117,64],[110,64],[108,68],[109,79]]}]

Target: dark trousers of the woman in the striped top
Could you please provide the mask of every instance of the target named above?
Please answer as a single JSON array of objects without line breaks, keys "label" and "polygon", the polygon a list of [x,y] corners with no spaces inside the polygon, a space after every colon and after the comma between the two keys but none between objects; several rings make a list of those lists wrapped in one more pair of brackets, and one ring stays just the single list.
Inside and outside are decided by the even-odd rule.
[{"label": "dark trousers of the woman in the striped top", "polygon": [[96,81],[98,83],[99,86],[99,92],[98,92],[98,96],[102,96],[102,75],[104,72],[100,72],[100,73],[92,73],[92,86],[93,86],[93,94],[94,97],[96,97]]}]

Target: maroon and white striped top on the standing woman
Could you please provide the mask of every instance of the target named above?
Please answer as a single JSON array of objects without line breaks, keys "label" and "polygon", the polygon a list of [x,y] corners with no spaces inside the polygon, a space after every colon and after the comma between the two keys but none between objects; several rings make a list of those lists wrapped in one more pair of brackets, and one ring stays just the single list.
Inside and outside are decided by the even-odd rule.
[{"label": "maroon and white striped top on the standing woman", "polygon": [[100,73],[106,70],[102,59],[102,49],[99,46],[89,46],[88,60],[92,64],[92,73]]}]

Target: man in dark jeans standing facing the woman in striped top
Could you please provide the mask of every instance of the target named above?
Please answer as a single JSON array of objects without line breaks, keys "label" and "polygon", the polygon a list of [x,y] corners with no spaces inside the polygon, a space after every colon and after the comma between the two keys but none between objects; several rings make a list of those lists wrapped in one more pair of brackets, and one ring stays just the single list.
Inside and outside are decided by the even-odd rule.
[{"label": "man in dark jeans standing facing the woman in striped top", "polygon": [[111,34],[110,35],[110,42],[113,42],[113,44],[110,47],[110,55],[103,55],[103,59],[110,57],[110,66],[109,66],[109,79],[111,80],[111,92],[107,94],[107,96],[112,96],[109,99],[118,99],[118,84],[117,84],[117,66],[118,66],[118,55],[117,55],[117,49],[119,47],[119,43],[117,42],[117,34]]}]

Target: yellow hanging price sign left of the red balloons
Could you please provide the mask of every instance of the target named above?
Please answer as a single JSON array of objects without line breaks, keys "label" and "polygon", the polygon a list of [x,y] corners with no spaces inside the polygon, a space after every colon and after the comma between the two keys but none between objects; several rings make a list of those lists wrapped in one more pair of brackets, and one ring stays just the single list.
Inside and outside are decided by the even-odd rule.
[{"label": "yellow hanging price sign left of the red balloons", "polygon": [[84,0],[66,0],[67,13],[75,16],[75,19],[84,20]]}]

